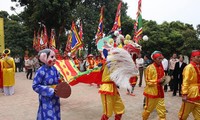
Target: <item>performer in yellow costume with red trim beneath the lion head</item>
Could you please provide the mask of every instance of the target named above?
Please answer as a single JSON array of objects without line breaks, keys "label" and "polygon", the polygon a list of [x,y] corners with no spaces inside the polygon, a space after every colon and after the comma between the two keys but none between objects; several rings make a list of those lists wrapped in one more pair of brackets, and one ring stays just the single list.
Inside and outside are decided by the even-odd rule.
[{"label": "performer in yellow costume with red trim beneath the lion head", "polygon": [[101,120],[108,120],[115,114],[115,120],[121,120],[122,114],[125,111],[125,106],[117,90],[116,84],[110,79],[108,66],[104,66],[102,75],[102,84],[99,88],[101,101],[103,105],[103,115]]}]

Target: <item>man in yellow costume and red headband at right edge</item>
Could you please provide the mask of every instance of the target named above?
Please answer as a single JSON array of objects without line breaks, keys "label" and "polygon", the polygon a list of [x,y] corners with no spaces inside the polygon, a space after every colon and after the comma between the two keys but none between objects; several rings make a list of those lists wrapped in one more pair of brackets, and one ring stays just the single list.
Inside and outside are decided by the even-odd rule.
[{"label": "man in yellow costume and red headband at right edge", "polygon": [[179,111],[179,119],[186,120],[188,118],[188,115],[192,112],[194,119],[199,120],[200,50],[192,51],[191,62],[183,70],[182,100],[183,102]]}]

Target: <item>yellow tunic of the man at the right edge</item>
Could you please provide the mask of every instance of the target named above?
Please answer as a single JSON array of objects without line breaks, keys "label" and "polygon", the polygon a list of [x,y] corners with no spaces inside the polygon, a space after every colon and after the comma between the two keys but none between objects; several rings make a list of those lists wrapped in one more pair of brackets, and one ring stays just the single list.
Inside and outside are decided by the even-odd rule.
[{"label": "yellow tunic of the man at the right edge", "polygon": [[[200,68],[197,67],[200,75]],[[192,101],[200,100],[200,80],[192,64],[188,64],[183,70],[182,94]]]}]

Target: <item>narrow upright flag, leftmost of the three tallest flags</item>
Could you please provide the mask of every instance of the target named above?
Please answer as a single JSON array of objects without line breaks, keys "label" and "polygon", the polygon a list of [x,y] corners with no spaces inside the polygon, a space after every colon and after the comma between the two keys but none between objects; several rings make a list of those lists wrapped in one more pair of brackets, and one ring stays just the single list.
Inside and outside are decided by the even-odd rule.
[{"label": "narrow upright flag, leftmost of the three tallest flags", "polygon": [[101,7],[101,13],[100,13],[100,20],[99,20],[99,26],[97,29],[97,33],[96,33],[96,44],[99,41],[99,39],[101,39],[103,37],[103,12],[104,12],[104,7]]}]

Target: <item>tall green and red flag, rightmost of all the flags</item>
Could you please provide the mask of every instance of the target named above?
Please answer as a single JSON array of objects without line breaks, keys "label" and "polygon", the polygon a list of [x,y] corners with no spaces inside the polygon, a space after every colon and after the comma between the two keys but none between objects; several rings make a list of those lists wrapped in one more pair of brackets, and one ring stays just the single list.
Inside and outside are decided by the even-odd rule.
[{"label": "tall green and red flag, rightmost of all the flags", "polygon": [[141,39],[142,37],[142,11],[141,11],[141,5],[142,5],[142,0],[138,1],[138,11],[137,11],[137,17],[136,17],[136,22],[134,23],[134,37],[133,39],[135,40],[136,43]]}]

